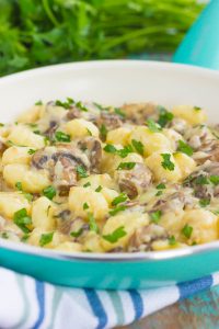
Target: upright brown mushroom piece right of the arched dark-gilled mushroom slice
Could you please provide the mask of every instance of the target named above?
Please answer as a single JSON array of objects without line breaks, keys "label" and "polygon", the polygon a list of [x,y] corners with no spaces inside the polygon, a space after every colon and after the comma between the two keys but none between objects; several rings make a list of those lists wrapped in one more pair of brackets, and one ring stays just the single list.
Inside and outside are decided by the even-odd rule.
[{"label": "upright brown mushroom piece right of the arched dark-gilled mushroom slice", "polygon": [[85,137],[78,143],[78,146],[88,156],[91,172],[99,173],[102,160],[101,141],[95,137]]}]

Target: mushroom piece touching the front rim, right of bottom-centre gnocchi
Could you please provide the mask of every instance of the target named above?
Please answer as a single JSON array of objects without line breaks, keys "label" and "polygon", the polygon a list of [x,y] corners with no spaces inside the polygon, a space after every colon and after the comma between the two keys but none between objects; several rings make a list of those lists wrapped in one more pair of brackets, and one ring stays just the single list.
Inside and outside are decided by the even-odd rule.
[{"label": "mushroom piece touching the front rim, right of bottom-centre gnocchi", "polygon": [[128,243],[129,252],[149,251],[152,250],[152,243],[154,241],[161,241],[168,239],[166,230],[159,225],[150,224],[142,228],[138,228],[130,237]]}]

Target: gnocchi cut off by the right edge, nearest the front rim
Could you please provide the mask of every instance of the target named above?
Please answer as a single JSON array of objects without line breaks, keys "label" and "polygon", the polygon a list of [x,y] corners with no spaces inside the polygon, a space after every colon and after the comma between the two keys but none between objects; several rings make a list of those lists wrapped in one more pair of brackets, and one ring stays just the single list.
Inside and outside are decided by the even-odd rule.
[{"label": "gnocchi cut off by the right edge, nearest the front rim", "polygon": [[188,242],[206,243],[219,238],[218,217],[207,209],[191,209],[183,216],[184,225],[193,228]]}]

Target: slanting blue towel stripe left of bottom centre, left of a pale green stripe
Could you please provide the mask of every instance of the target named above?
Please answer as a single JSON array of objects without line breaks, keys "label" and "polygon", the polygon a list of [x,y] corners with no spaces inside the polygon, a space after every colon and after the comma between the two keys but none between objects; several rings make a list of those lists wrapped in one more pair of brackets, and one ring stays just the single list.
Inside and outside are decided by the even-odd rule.
[{"label": "slanting blue towel stripe left of bottom centre, left of a pale green stripe", "polygon": [[99,298],[99,295],[94,290],[85,288],[84,293],[87,295],[87,298],[90,303],[90,306],[94,313],[94,315],[99,318],[99,325],[96,329],[102,329],[107,324],[107,315],[103,308],[103,305],[101,303],[101,299]]}]

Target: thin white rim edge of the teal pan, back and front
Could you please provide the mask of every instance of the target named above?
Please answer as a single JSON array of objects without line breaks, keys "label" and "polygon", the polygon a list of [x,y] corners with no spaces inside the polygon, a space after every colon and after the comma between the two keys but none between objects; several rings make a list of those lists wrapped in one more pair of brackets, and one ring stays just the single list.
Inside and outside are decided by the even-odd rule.
[{"label": "thin white rim edge of the teal pan, back and front", "polygon": [[[91,60],[91,61],[79,61],[79,63],[67,63],[58,64],[51,66],[45,66],[41,68],[34,68],[31,70],[9,75],[0,78],[0,84],[4,82],[10,82],[10,80],[20,80],[31,76],[32,73],[39,73],[42,71],[49,72],[49,70],[68,70],[69,67],[76,67],[78,69],[85,67],[104,67],[107,65],[117,66],[150,66],[150,67],[160,67],[168,69],[178,69],[180,71],[194,71],[194,73],[199,75],[199,77],[211,76],[212,78],[219,78],[219,71],[214,71],[208,68],[200,68],[193,65],[176,64],[176,63],[161,63],[153,60],[136,60],[136,59],[119,59],[119,60]],[[15,252],[28,253],[43,258],[51,258],[58,260],[68,260],[68,261],[100,261],[100,262],[139,262],[139,261],[162,261],[165,259],[174,259],[180,257],[186,257],[192,254],[204,253],[208,251],[219,250],[219,240],[211,241],[208,243],[185,247],[182,249],[170,249],[164,251],[146,251],[146,252],[115,252],[115,253],[91,253],[91,252],[65,252],[57,251],[53,249],[45,249],[41,247],[34,247],[31,245],[25,245],[22,242],[9,241],[0,238],[0,248],[8,249]]]}]

